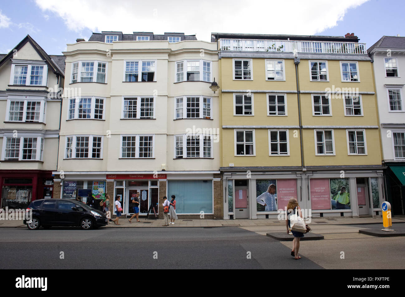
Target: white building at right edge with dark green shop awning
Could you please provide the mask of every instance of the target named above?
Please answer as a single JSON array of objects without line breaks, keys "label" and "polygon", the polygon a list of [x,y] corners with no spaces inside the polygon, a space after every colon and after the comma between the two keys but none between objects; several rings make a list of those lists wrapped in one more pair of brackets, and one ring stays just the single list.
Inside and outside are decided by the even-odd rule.
[{"label": "white building at right edge with dark green shop awning", "polygon": [[[386,197],[393,215],[404,214],[405,196],[405,37],[382,36],[368,49],[373,61],[381,129],[382,161],[386,166]],[[377,143],[375,143],[377,145]]]}]

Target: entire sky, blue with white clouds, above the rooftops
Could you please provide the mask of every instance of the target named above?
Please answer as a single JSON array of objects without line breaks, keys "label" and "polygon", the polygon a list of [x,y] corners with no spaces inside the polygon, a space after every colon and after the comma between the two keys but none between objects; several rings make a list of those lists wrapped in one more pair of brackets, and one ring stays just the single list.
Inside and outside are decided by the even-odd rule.
[{"label": "entire sky, blue with white clouds, above the rooftops", "polygon": [[405,36],[404,0],[1,0],[0,53],[27,34],[62,55],[92,32],[184,32],[211,41],[211,32],[344,36],[367,48],[383,35]]}]

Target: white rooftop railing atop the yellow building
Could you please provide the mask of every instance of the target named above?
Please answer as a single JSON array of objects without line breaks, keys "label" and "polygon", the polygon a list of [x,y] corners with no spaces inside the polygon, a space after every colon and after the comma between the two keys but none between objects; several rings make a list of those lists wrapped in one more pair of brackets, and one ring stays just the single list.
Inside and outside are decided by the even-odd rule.
[{"label": "white rooftop railing atop the yellow building", "polygon": [[366,55],[365,43],[260,39],[220,39],[220,51]]}]

